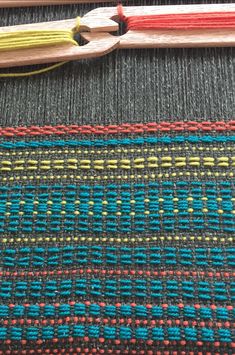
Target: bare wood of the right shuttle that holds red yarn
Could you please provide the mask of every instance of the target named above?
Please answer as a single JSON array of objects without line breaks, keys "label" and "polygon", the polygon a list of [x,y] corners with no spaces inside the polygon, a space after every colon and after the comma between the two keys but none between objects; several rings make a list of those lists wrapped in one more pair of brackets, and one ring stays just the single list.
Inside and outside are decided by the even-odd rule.
[{"label": "bare wood of the right shuttle that holds red yarn", "polygon": [[[235,12],[235,4],[201,4],[169,6],[127,6],[125,16],[154,14],[182,14],[198,12]],[[89,18],[100,16],[117,18],[115,7],[97,8],[89,12]],[[86,17],[85,16],[85,17]],[[84,39],[91,41],[95,34],[82,33]],[[187,47],[230,47],[235,46],[235,29],[221,30],[154,30],[128,31],[120,36],[119,48],[187,48]]]}]

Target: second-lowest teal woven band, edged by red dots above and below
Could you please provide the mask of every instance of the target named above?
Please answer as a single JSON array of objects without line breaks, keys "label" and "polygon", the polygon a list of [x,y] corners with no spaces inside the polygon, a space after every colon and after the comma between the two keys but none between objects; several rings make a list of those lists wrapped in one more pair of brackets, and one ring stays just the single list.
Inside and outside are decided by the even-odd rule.
[{"label": "second-lowest teal woven band, edged by red dots above and below", "polygon": [[[229,308],[229,307],[228,307]],[[161,305],[131,305],[128,303],[107,304],[100,306],[98,303],[89,305],[81,302],[59,303],[56,306],[46,303],[44,306],[40,304],[17,304],[14,306],[0,305],[0,318],[57,318],[57,317],[108,317],[111,319],[136,318],[136,319],[186,319],[186,320],[215,320],[230,321],[235,318],[235,308],[230,306],[228,309],[223,306],[194,306],[194,305],[172,305],[168,304],[164,307]]]}]

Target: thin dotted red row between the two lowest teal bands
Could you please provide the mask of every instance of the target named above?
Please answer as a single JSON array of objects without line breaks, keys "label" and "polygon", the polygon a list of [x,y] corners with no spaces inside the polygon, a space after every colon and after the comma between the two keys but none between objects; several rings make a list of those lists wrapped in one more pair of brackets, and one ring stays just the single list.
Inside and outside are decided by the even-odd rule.
[{"label": "thin dotted red row between the two lowest teal bands", "polygon": [[2,319],[0,323],[4,326],[11,325],[58,325],[58,324],[77,324],[77,323],[97,323],[97,324],[109,324],[109,325],[148,325],[150,328],[156,325],[179,325],[183,327],[193,326],[193,327],[225,327],[234,329],[235,323],[229,321],[197,321],[197,320],[183,320],[183,319],[132,319],[132,318],[94,318],[94,317],[64,317],[56,319],[31,319],[31,318],[20,318],[20,319]]}]

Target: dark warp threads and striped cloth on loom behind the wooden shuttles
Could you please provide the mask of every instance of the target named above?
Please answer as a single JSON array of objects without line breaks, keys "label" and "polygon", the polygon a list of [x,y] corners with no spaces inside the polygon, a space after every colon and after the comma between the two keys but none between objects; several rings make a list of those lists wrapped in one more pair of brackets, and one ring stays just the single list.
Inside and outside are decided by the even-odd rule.
[{"label": "dark warp threads and striped cloth on loom behind the wooden shuttles", "polygon": [[1,355],[234,353],[234,94],[231,47],[1,79]]}]

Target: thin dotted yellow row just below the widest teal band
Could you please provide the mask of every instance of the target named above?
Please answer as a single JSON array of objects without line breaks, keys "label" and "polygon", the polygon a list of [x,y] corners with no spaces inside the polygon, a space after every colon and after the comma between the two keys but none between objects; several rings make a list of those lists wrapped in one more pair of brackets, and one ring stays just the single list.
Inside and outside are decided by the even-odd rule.
[{"label": "thin dotted yellow row just below the widest teal band", "polygon": [[3,237],[0,243],[39,243],[39,242],[115,242],[115,243],[136,243],[136,242],[155,242],[155,241],[206,241],[206,242],[220,242],[231,243],[235,241],[235,237],[220,237],[220,236],[150,236],[150,237],[83,237],[83,236],[38,236],[38,237]]}]

